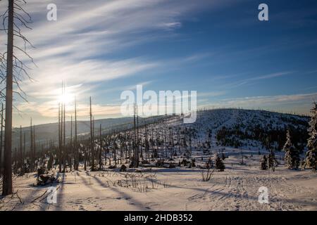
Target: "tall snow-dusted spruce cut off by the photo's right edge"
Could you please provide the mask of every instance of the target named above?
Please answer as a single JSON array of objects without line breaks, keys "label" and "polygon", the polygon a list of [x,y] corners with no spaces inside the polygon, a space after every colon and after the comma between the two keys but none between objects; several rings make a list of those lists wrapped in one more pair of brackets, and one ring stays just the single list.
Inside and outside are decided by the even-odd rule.
[{"label": "tall snow-dusted spruce cut off by the photo's right edge", "polygon": [[306,167],[311,167],[313,171],[317,169],[317,103],[313,103],[311,109],[311,121],[309,122],[309,139],[307,140]]}]

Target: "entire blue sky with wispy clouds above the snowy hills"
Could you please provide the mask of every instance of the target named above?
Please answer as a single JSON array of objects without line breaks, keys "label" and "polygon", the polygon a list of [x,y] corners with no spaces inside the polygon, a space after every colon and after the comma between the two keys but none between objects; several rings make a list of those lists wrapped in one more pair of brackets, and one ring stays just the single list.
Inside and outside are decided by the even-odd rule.
[{"label": "entire blue sky with wispy clouds above the snowy hills", "polygon": [[[49,3],[58,8],[57,21],[46,20]],[[258,20],[261,3],[268,21]],[[34,21],[25,34],[37,47],[30,49],[37,81],[23,82],[30,103],[17,98],[22,113],[14,126],[29,117],[55,122],[61,80],[70,98],[77,96],[82,120],[89,96],[96,118],[120,116],[120,93],[137,84],[144,91],[195,90],[201,107],[309,113],[317,97],[313,0],[29,0],[25,8]]]}]

